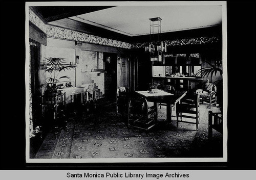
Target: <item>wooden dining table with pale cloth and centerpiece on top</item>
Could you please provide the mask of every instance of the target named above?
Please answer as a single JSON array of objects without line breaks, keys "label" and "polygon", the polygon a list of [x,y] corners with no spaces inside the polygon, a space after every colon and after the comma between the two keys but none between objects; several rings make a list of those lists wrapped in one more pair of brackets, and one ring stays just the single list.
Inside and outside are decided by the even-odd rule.
[{"label": "wooden dining table with pale cloth and centerpiece on top", "polygon": [[175,91],[174,93],[158,90],[156,93],[150,93],[150,91],[135,91],[139,95],[146,98],[147,101],[154,102],[154,106],[157,103],[166,104],[166,120],[172,120],[172,105],[179,102],[187,93],[187,91]]}]

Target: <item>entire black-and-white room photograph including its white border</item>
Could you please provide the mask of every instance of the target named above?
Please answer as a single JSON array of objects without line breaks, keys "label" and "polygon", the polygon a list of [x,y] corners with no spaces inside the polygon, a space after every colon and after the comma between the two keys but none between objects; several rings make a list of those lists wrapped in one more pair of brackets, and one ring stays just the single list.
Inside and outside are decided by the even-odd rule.
[{"label": "entire black-and-white room photograph including its white border", "polygon": [[226,2],[26,2],[26,162],[227,162]]}]

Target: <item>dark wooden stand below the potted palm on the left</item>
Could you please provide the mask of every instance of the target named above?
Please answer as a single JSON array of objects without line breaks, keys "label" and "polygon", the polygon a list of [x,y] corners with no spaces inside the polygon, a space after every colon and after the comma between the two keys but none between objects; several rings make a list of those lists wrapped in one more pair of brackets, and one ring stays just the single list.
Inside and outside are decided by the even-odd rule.
[{"label": "dark wooden stand below the potted palm on the left", "polygon": [[46,113],[50,119],[50,125],[53,127],[55,135],[59,132],[59,127],[62,126],[67,131],[67,102],[66,93],[54,96],[41,96],[41,107],[45,106]]}]

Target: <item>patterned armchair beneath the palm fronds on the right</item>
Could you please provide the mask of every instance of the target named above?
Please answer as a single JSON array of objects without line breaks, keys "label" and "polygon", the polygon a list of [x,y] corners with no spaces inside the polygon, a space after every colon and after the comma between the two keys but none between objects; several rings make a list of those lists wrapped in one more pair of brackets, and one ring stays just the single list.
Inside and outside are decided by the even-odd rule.
[{"label": "patterned armchair beneath the palm fronds on the right", "polygon": [[203,89],[196,90],[196,93],[199,94],[199,101],[203,104],[207,104],[211,107],[211,105],[217,104],[217,87],[215,84],[207,83],[205,84]]}]

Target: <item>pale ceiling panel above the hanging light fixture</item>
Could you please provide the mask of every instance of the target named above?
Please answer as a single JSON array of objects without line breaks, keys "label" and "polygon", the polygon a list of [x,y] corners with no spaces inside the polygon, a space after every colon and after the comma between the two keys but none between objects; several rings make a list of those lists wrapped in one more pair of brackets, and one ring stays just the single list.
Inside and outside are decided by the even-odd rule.
[{"label": "pale ceiling panel above the hanging light fixture", "polygon": [[[160,17],[162,33],[222,23],[222,6],[117,6],[70,17],[129,36],[150,34],[150,18]],[[154,29],[155,31],[155,29]]]}]

